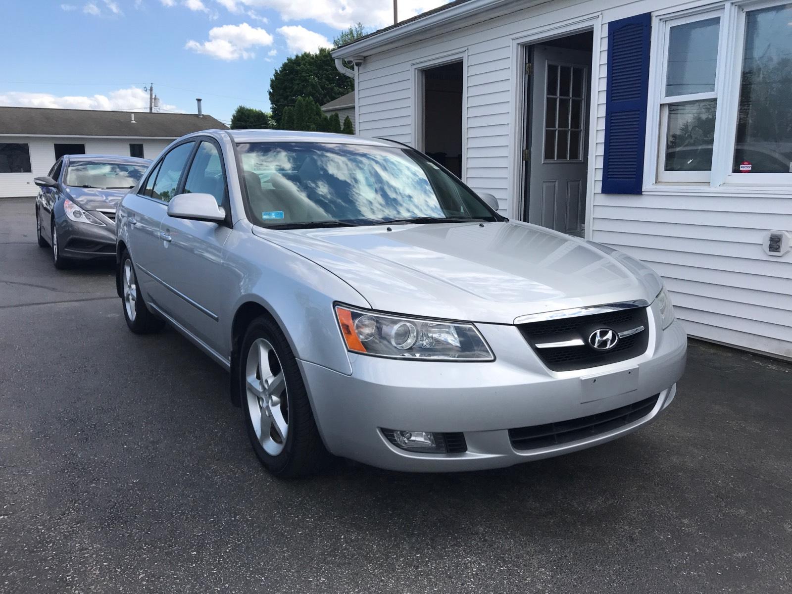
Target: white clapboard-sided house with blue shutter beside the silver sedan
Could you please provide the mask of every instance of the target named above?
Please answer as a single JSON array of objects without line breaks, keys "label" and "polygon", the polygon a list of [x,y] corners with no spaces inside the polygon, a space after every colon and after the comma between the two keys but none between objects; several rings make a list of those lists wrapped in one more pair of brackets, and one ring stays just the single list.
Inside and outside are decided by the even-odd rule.
[{"label": "white clapboard-sided house with blue shutter beside the silver sedan", "polygon": [[792,358],[789,0],[458,0],[333,57],[357,134],[640,257],[691,336]]}]

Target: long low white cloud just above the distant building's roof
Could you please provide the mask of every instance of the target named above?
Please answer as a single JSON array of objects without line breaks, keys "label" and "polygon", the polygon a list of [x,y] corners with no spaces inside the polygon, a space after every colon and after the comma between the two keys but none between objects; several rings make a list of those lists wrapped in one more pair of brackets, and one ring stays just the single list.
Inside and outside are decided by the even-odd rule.
[{"label": "long low white cloud just above the distant building's roof", "polygon": [[[0,105],[18,107],[48,107],[61,109],[101,109],[131,111],[148,109],[148,93],[143,89],[117,89],[107,95],[67,95],[58,96],[51,93],[25,93],[10,91],[0,93]],[[176,105],[162,103],[161,109],[170,112],[181,111]]]}]

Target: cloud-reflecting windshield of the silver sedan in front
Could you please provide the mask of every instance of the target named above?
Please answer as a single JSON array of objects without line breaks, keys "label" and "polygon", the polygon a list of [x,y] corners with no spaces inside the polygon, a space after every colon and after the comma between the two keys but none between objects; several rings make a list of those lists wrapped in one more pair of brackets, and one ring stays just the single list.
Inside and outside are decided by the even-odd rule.
[{"label": "cloud-reflecting windshield of the silver sedan in front", "polygon": [[470,189],[409,148],[238,145],[249,212],[264,227],[499,220]]}]

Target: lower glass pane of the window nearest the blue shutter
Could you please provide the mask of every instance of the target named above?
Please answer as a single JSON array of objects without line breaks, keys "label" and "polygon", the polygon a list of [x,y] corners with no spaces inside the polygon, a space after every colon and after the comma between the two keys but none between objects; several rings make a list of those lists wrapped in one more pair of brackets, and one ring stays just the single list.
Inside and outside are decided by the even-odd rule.
[{"label": "lower glass pane of the window nearest the blue shutter", "polygon": [[709,171],[717,99],[667,105],[666,171]]}]

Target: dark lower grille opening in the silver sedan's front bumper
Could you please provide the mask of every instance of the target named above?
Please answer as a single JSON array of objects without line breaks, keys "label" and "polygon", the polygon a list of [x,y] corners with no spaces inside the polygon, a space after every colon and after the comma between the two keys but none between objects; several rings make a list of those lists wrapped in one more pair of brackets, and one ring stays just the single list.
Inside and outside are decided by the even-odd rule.
[{"label": "dark lower grille opening in the silver sedan's front bumper", "polygon": [[571,421],[509,429],[508,439],[516,450],[538,450],[541,447],[552,447],[584,440],[642,419],[652,412],[652,409],[657,404],[657,398],[660,398],[660,394],[655,394],[650,398],[645,398],[618,409],[572,419]]}]

